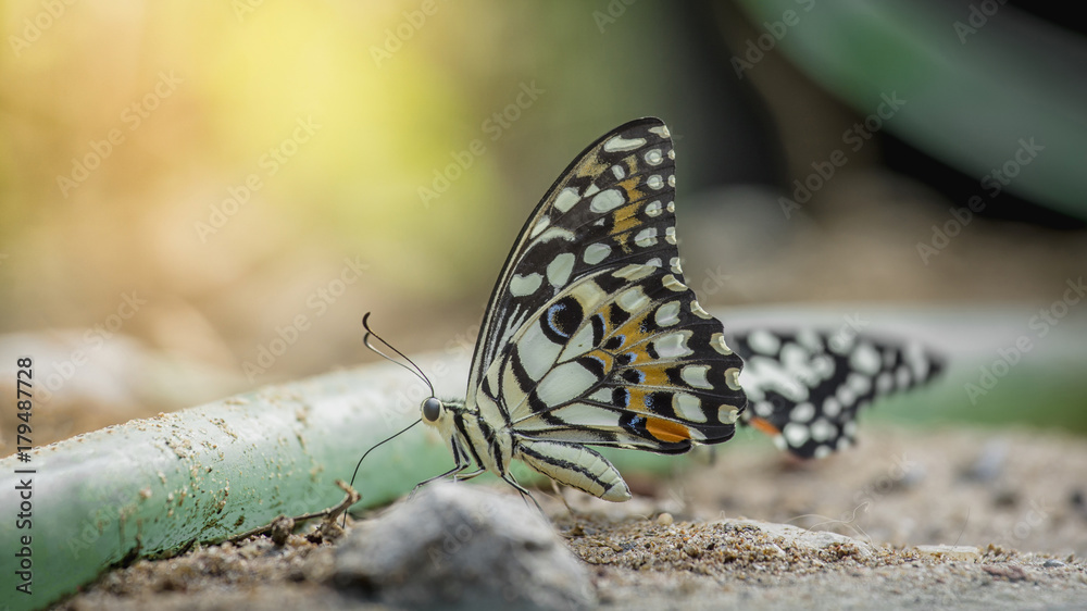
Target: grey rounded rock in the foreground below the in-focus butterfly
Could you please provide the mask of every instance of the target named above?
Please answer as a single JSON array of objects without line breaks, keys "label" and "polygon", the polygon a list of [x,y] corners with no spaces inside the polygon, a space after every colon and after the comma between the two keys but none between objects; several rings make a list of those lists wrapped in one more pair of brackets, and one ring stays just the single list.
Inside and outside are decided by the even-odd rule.
[{"label": "grey rounded rock in the foreground below the in-focus butterfly", "polygon": [[393,607],[577,609],[594,604],[585,564],[523,500],[435,483],[351,531],[333,584]]}]

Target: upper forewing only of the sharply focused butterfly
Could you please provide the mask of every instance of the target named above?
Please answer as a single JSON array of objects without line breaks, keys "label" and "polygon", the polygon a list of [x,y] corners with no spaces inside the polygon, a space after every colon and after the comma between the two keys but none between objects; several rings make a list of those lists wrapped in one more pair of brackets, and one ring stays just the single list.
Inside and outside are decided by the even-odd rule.
[{"label": "upper forewing only of the sharply focused butterfly", "polygon": [[583,151],[521,229],[495,284],[468,376],[468,400],[529,315],[594,271],[678,264],[667,127],[640,119]]}]

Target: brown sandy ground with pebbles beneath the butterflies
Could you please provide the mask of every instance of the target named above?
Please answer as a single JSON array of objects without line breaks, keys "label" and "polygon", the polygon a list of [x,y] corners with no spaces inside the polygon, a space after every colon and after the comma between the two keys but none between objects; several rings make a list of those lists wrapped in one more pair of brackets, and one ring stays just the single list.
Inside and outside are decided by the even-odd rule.
[{"label": "brown sandy ground with pebbles beneath the butterflies", "polygon": [[[1083,608],[1087,445],[966,431],[862,441],[804,464],[741,441],[666,482],[629,476],[626,503],[536,496],[604,608]],[[262,537],[138,561],[60,607],[370,607],[335,587],[336,545]]]}]

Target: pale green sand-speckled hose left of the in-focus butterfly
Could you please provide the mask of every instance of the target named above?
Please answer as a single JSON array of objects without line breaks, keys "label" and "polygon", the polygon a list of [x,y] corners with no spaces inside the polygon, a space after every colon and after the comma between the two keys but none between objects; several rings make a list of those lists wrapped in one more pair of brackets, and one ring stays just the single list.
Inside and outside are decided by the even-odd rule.
[{"label": "pale green sand-speckled hose left of the in-focus butterfly", "polygon": [[[438,388],[464,394],[463,358],[418,362],[443,374],[434,377]],[[79,435],[32,451],[28,463],[0,460],[0,596],[13,609],[41,608],[126,559],[335,504],[343,492],[334,481],[350,479],[363,451],[417,419],[427,395],[408,372],[380,363]],[[644,467],[669,464],[635,453]],[[451,465],[445,442],[421,424],[366,459],[354,484],[360,504],[402,496]],[[14,490],[27,478],[32,527],[18,529]],[[15,589],[24,535],[32,537],[30,596]]]}]

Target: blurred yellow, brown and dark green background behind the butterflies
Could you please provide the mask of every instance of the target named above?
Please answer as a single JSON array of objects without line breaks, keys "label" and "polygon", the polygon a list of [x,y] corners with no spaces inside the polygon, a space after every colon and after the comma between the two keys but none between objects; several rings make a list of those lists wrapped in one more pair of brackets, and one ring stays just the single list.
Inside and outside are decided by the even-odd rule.
[{"label": "blurred yellow, brown and dark green background behind the butterflies", "polygon": [[559,172],[655,115],[707,307],[958,331],[924,419],[1087,432],[1087,46],[1045,7],[9,0],[0,386],[35,359],[42,444],[373,361],[367,311],[466,358]]}]

